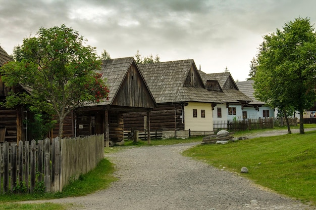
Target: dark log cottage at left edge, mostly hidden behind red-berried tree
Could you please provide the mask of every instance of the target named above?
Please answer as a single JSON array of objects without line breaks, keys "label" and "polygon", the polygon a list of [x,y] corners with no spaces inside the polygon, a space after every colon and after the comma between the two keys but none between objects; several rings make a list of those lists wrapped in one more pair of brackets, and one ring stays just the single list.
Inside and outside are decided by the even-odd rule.
[{"label": "dark log cottage at left edge, mostly hidden behind red-berried tree", "polygon": [[[0,47],[0,67],[2,67],[6,62],[9,61],[13,61],[13,59],[3,48]],[[1,102],[5,101],[10,91],[11,89],[5,86],[0,77]],[[16,107],[15,109],[0,107],[0,142],[22,140],[22,134],[24,134],[22,124],[23,114],[23,107]]]}]

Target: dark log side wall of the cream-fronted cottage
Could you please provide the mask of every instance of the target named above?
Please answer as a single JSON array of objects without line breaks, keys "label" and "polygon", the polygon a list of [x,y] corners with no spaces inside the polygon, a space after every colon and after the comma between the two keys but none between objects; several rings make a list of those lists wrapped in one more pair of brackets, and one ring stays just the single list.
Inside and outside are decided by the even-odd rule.
[{"label": "dark log side wall of the cream-fronted cottage", "polygon": [[[176,126],[178,131],[184,130],[183,109],[181,104],[177,105],[159,105],[150,112],[150,130],[175,130],[175,114]],[[147,112],[129,112],[124,113],[124,130],[144,130],[145,116]],[[183,121],[182,121],[183,120]]]}]

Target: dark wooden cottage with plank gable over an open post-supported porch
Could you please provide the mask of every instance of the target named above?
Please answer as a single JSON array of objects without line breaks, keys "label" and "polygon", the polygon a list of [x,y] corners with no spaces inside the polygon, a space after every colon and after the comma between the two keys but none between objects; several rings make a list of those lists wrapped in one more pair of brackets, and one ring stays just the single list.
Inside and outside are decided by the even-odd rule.
[{"label": "dark wooden cottage with plank gable over an open post-supported porch", "polygon": [[[109,99],[76,109],[69,116],[64,136],[104,133],[106,140],[119,142],[124,138],[123,113],[146,112],[150,116],[156,106],[133,57],[103,60],[100,73],[107,78]],[[147,123],[149,127],[149,119]]]}]

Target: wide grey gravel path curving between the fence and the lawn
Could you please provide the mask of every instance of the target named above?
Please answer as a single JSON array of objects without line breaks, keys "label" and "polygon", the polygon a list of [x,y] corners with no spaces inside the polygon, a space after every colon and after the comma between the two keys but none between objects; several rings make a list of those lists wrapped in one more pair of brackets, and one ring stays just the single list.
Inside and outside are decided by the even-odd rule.
[{"label": "wide grey gravel path curving between the fence and the lawn", "polygon": [[129,147],[107,154],[116,164],[114,176],[120,178],[109,189],[39,202],[73,203],[71,209],[91,210],[314,209],[180,154],[194,145]]}]

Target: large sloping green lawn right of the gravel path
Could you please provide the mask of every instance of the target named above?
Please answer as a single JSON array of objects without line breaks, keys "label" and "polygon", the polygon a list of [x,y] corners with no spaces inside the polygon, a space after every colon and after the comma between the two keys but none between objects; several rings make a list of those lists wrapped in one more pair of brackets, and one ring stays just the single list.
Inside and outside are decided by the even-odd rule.
[{"label": "large sloping green lawn right of the gravel path", "polygon": [[316,131],[199,145],[185,155],[240,173],[278,193],[316,203]]}]

